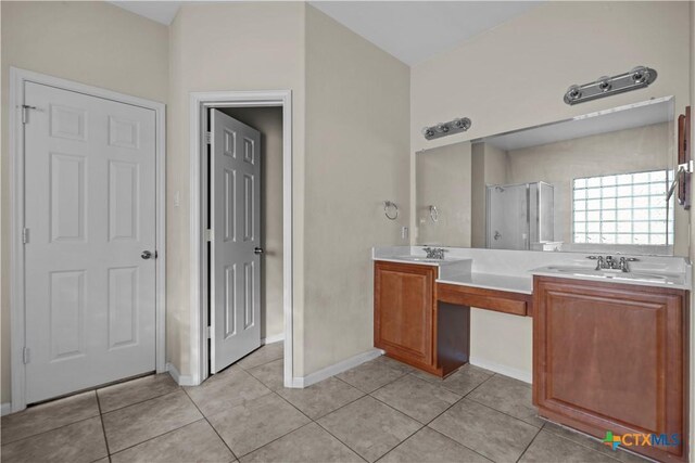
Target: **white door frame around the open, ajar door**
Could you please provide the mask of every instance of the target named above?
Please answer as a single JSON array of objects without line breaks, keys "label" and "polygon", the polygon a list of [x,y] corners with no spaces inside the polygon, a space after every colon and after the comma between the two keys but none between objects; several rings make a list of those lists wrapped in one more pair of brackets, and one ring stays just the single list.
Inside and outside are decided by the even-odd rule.
[{"label": "white door frame around the open, ajar door", "polygon": [[[292,91],[211,91],[190,93],[190,246],[191,246],[191,313],[190,385],[199,385],[210,375],[207,350],[207,279],[206,237],[206,152],[203,134],[207,127],[207,110],[213,107],[281,107],[282,108],[282,301],[285,318],[285,387],[301,387],[293,376],[292,335]],[[187,382],[188,383],[188,382]]]}]

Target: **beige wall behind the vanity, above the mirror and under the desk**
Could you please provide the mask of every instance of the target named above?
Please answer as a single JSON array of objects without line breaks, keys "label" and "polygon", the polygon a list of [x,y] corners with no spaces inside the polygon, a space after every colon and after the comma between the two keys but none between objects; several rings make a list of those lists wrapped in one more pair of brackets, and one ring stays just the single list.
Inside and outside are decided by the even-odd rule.
[{"label": "beige wall behind the vanity, above the mirror and under the desk", "polygon": [[[544,2],[413,67],[410,152],[592,113],[652,97],[690,101],[688,2]],[[658,70],[648,88],[568,106],[572,83],[644,64]],[[420,128],[468,116],[463,134],[427,142]],[[412,183],[415,179],[412,178]],[[482,311],[481,311],[482,312]],[[471,357],[530,373],[528,320],[472,319]],[[507,316],[511,317],[511,316]],[[504,343],[484,339],[505,339]],[[518,356],[509,357],[508,349]]]}]

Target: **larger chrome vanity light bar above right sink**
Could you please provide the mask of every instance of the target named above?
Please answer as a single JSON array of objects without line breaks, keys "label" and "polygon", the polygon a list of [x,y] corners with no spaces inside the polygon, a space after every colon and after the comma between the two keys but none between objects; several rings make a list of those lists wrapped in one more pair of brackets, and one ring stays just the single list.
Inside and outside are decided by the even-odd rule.
[{"label": "larger chrome vanity light bar above right sink", "polygon": [[637,66],[629,73],[599,77],[595,82],[571,86],[565,92],[565,103],[578,104],[611,94],[623,93],[648,87],[656,80],[657,72],[646,66]]}]

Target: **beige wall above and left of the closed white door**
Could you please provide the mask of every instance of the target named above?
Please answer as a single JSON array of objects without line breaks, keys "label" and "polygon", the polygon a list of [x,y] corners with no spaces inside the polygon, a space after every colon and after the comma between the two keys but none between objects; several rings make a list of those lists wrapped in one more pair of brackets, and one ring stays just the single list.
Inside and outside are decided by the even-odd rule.
[{"label": "beige wall above and left of the closed white door", "polygon": [[2,403],[10,401],[10,66],[166,102],[168,36],[105,2],[11,2],[2,16]]}]

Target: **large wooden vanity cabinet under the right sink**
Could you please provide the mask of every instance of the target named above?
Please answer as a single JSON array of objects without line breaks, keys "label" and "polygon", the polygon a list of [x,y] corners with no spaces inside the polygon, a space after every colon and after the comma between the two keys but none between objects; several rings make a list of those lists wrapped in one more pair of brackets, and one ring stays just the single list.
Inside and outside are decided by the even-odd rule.
[{"label": "large wooden vanity cabinet under the right sink", "polygon": [[598,438],[678,435],[629,449],[686,461],[687,292],[535,276],[533,294],[539,413]]}]

